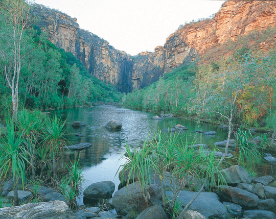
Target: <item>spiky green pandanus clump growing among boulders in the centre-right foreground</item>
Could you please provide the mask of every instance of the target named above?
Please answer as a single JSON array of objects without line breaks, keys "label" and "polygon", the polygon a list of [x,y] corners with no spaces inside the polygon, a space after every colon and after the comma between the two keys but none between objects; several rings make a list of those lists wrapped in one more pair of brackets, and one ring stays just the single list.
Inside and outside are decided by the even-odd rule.
[{"label": "spiky green pandanus clump growing among boulders in the centre-right foreground", "polygon": [[[180,190],[192,190],[197,184],[200,187],[197,191],[199,194],[206,181],[211,186],[225,184],[225,176],[220,171],[227,163],[215,156],[216,149],[206,153],[203,148],[195,148],[193,145],[194,142],[188,142],[186,136],[163,134],[161,131],[152,140],[145,140],[143,148],[131,151],[126,144],[127,162],[122,170],[123,175],[127,176],[126,182],[132,183],[131,179],[139,181],[144,190],[145,202],[148,202],[149,193],[145,186],[151,183],[153,174],[158,175],[161,185],[166,185],[169,181],[166,187],[172,191],[172,201],[166,201],[165,186],[161,186],[163,207],[172,215],[176,212],[179,214],[176,198]],[[166,174],[168,172],[170,175]],[[166,181],[168,176],[169,180]]]}]

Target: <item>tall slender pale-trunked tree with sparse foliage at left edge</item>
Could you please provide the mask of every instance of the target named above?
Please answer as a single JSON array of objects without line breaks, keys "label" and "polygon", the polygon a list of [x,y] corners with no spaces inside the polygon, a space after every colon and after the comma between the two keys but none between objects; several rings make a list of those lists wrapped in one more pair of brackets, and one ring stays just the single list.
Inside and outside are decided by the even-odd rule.
[{"label": "tall slender pale-trunked tree with sparse foliage at left edge", "polygon": [[23,0],[2,0],[0,57],[6,81],[11,89],[13,116],[18,111],[18,88],[21,60],[34,48],[28,48],[26,29],[30,18],[30,6]]}]

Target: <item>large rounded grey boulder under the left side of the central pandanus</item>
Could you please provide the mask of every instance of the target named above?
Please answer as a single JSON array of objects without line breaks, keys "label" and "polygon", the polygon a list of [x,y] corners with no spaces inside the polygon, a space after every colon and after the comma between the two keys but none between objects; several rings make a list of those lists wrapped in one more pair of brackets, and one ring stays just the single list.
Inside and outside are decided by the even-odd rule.
[{"label": "large rounded grey boulder under the left side of the central pandanus", "polygon": [[[150,199],[155,197],[154,190],[151,186],[145,185]],[[141,212],[151,206],[150,200],[145,200],[143,190],[139,182],[134,182],[121,188],[114,193],[112,204],[118,214],[127,215],[130,211]]]}]

